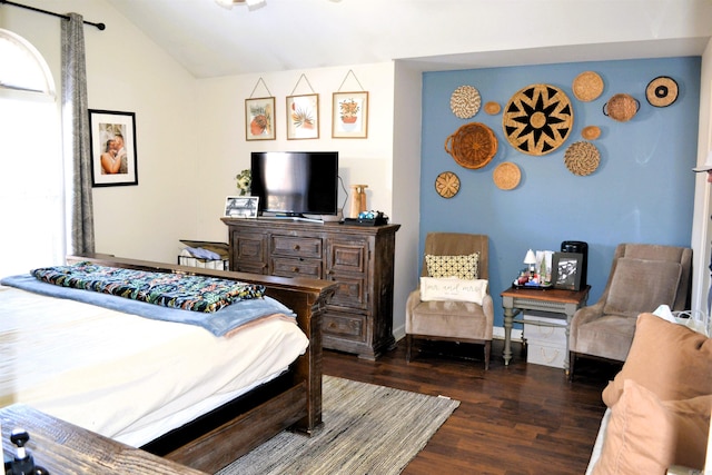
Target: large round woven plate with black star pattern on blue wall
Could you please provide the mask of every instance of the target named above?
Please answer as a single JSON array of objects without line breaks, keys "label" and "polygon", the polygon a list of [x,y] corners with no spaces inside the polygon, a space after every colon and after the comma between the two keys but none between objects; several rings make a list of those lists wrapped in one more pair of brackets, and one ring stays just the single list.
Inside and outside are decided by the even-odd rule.
[{"label": "large round woven plate with black star pattern on blue wall", "polygon": [[550,85],[532,85],[515,93],[502,113],[507,141],[516,150],[546,155],[564,144],[574,125],[571,100]]}]

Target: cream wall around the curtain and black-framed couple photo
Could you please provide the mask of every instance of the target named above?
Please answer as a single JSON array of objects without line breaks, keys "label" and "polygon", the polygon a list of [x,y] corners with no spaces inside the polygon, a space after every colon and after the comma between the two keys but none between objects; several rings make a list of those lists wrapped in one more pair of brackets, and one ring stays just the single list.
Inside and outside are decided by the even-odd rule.
[{"label": "cream wall around the curtain and black-framed couple photo", "polygon": [[[97,250],[175,261],[178,238],[196,237],[196,81],[103,1],[28,1],[105,22],[85,28],[90,109],[136,112],[138,186],[95,188]],[[0,28],[30,41],[61,90],[59,18],[0,8]],[[58,101],[59,105],[59,101]]]}]

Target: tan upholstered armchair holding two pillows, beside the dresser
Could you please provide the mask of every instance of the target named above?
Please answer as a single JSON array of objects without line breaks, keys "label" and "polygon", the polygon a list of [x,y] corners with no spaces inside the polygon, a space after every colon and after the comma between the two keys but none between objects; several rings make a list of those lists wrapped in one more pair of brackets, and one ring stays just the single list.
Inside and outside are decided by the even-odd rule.
[{"label": "tan upholstered armchair holding two pillows, beside the dresser", "polygon": [[[426,256],[466,256],[478,253],[478,278],[487,279],[488,238],[485,235],[429,232],[425,238],[422,276],[427,277]],[[419,288],[408,296],[405,310],[406,358],[415,338],[484,345],[490,368],[494,306],[487,291],[482,305],[471,301],[421,301]]]}]

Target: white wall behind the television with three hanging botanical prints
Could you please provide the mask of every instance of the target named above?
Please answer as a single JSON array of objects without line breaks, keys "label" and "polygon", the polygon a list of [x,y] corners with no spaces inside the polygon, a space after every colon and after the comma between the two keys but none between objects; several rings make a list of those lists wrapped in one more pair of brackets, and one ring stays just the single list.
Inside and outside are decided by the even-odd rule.
[{"label": "white wall behind the television with three hanging botanical prints", "polygon": [[[392,205],[393,77],[393,63],[383,62],[198,80],[196,182],[200,239],[227,240],[227,227],[219,220],[225,197],[237,192],[234,177],[249,168],[250,152],[261,150],[338,151],[339,176],[346,190],[350,191],[350,185],[368,185],[368,209],[382,210],[397,221]],[[368,138],[333,139],[332,95],[359,91],[362,87],[368,91]],[[319,138],[287,140],[286,98],[310,93],[319,95]],[[276,139],[246,141],[245,99],[269,96],[276,98]],[[342,190],[339,206],[345,200]]]}]

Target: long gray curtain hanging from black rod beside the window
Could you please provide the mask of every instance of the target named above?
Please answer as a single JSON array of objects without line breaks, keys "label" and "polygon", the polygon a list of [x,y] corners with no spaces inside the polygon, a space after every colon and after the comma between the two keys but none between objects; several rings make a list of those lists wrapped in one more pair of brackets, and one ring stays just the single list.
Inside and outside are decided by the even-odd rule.
[{"label": "long gray curtain hanging from black rod beside the window", "polygon": [[65,161],[71,164],[67,180],[69,254],[95,251],[91,200],[91,149],[85,60],[85,24],[81,14],[69,13],[62,24],[62,129]]}]

